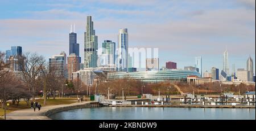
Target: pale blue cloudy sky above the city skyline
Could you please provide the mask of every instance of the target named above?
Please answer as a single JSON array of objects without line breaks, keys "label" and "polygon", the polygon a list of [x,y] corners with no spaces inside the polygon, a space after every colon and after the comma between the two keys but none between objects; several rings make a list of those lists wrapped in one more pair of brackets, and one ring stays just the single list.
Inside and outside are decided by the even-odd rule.
[{"label": "pale blue cloudy sky above the city skyline", "polygon": [[[203,71],[222,69],[222,52],[229,64],[246,68],[255,62],[255,0],[0,0],[0,50],[22,46],[49,58],[68,53],[71,23],[83,56],[86,16],[92,15],[101,47],[117,43],[118,29],[128,28],[129,47],[158,47],[160,66],[195,64],[202,56]],[[82,58],[83,59],[83,58]],[[255,63],[254,63],[255,72]]]}]

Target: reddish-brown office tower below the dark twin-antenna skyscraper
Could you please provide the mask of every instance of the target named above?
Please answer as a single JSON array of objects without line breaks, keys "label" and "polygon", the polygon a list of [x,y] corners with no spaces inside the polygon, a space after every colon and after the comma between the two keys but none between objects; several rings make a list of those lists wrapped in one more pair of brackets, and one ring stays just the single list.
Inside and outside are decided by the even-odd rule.
[{"label": "reddish-brown office tower below the dark twin-antenna skyscraper", "polygon": [[68,56],[68,79],[73,80],[72,73],[80,70],[79,56],[71,54]]}]

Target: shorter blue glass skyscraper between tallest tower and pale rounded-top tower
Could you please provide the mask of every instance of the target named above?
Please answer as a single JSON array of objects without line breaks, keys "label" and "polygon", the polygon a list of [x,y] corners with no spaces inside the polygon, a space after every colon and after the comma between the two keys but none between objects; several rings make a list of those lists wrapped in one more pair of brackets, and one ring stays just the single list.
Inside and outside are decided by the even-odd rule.
[{"label": "shorter blue glass skyscraper between tallest tower and pale rounded-top tower", "polygon": [[105,40],[102,43],[102,54],[108,56],[108,63],[107,64],[115,64],[115,42],[110,40]]}]

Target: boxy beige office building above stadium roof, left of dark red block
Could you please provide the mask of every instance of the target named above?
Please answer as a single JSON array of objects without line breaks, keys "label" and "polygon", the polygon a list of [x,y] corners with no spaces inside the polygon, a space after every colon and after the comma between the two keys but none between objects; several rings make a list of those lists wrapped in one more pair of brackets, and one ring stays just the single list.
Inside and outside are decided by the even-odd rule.
[{"label": "boxy beige office building above stadium roof, left of dark red block", "polygon": [[158,71],[158,70],[159,70],[159,58],[147,58],[146,71]]}]

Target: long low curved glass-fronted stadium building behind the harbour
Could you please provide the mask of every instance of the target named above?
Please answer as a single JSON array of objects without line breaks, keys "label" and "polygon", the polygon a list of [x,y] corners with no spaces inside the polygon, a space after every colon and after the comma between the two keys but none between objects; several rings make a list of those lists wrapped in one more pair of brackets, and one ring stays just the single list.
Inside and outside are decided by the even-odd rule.
[{"label": "long low curved glass-fronted stadium building behind the harbour", "polygon": [[169,69],[163,71],[143,71],[143,72],[105,72],[94,71],[100,77],[106,77],[106,80],[118,80],[131,78],[143,82],[162,82],[162,81],[187,81],[187,76],[198,76],[196,71],[186,71],[183,69]]}]

